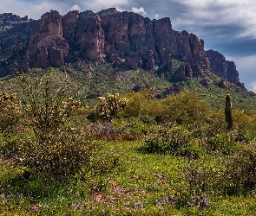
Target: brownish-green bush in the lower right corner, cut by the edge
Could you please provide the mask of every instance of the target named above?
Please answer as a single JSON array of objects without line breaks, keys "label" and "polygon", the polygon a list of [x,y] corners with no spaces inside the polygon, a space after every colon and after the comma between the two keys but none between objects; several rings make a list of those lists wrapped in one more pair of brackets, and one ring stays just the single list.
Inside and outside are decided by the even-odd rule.
[{"label": "brownish-green bush in the lower right corner, cut by the edge", "polygon": [[181,193],[179,199],[187,202],[191,197],[202,199],[207,194],[245,194],[255,188],[255,170],[254,143],[241,144],[229,156],[205,156],[202,160],[190,161],[181,174],[180,181],[185,183],[178,188]]}]

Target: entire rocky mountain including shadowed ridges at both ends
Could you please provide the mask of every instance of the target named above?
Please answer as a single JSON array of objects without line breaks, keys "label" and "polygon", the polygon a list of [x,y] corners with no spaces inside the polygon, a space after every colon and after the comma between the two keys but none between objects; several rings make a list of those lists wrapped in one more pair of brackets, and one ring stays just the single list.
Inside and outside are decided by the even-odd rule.
[{"label": "entire rocky mountain including shadowed ridges at both ends", "polygon": [[175,31],[169,18],[150,20],[110,8],[98,13],[75,10],[65,16],[51,10],[39,21],[2,14],[0,23],[2,76],[8,73],[3,61],[16,62],[29,72],[34,67],[65,70],[67,64],[84,60],[133,70],[165,66],[167,77],[169,71],[179,79],[212,72],[242,86],[232,61],[214,51],[206,52],[204,41],[193,33]]}]

